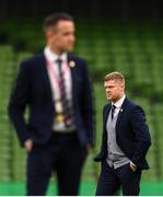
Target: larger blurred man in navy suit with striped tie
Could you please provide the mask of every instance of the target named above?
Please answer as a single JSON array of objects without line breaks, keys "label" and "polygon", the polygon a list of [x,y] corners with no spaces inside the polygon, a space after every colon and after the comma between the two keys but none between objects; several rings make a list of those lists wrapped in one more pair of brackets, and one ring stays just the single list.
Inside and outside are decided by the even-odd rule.
[{"label": "larger blurred man in navy suit with striped tie", "polygon": [[74,44],[72,16],[47,16],[44,32],[44,53],[20,67],[9,116],[27,151],[27,195],[45,195],[53,172],[58,195],[78,195],[83,163],[94,146],[90,77],[86,62],[70,54]]}]

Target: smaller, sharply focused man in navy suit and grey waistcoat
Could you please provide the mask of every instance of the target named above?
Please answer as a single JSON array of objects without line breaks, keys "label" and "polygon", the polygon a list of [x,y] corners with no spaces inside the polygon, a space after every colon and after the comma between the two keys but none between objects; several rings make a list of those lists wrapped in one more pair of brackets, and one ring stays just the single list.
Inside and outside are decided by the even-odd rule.
[{"label": "smaller, sharply focused man in navy suit and grey waistcoat", "polygon": [[105,77],[106,97],[110,101],[103,111],[103,139],[95,161],[102,162],[96,196],[112,196],[119,186],[123,195],[140,192],[141,171],[151,144],[143,109],[125,95],[125,79],[119,72]]}]

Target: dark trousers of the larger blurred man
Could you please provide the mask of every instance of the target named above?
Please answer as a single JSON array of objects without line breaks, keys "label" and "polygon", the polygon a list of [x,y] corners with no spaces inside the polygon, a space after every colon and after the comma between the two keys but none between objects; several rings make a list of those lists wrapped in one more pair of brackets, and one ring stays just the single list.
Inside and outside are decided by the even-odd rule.
[{"label": "dark trousers of the larger blurred man", "polygon": [[56,132],[48,144],[34,146],[27,157],[27,196],[45,195],[53,172],[57,175],[58,195],[77,196],[86,154],[77,132]]}]

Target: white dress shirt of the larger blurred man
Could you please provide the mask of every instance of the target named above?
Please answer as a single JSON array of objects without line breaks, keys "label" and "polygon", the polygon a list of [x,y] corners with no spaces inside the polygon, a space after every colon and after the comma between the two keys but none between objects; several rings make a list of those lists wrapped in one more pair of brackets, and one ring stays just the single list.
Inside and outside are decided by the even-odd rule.
[{"label": "white dress shirt of the larger blurred man", "polygon": [[[61,56],[57,56],[54,54],[50,48],[47,46],[44,49],[44,54],[47,61],[47,71],[48,77],[50,81],[51,86],[51,93],[53,93],[53,101],[56,109],[56,114],[60,114],[63,111],[61,100],[61,93],[60,93],[60,86],[59,86],[59,69],[58,65],[56,62],[57,59],[61,60],[61,71],[63,72],[63,79],[65,79],[65,85],[66,85],[66,95],[67,100],[72,105],[72,79],[71,79],[71,71],[70,67],[68,65],[68,54],[63,53]],[[58,103],[60,103],[58,105]],[[74,128],[67,129],[63,121],[57,121],[56,116],[54,117],[54,124],[53,124],[53,130],[59,131],[59,132],[66,132],[66,131],[72,131]]]}]

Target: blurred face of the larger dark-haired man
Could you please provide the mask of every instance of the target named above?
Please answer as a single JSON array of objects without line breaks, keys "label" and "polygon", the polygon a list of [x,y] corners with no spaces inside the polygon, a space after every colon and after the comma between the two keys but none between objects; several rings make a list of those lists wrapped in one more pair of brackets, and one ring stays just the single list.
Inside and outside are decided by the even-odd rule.
[{"label": "blurred face of the larger dark-haired man", "polygon": [[74,45],[74,23],[71,21],[59,21],[55,30],[49,34],[48,43],[54,50],[69,53]]}]

